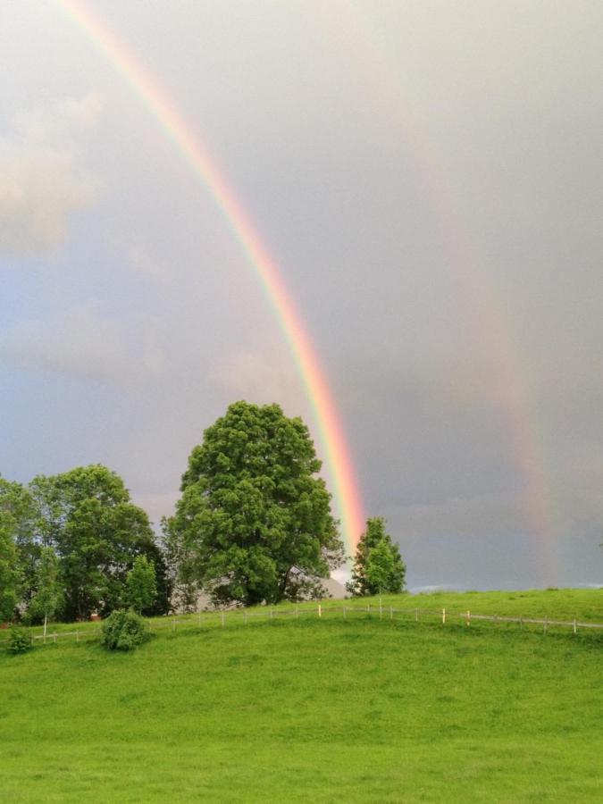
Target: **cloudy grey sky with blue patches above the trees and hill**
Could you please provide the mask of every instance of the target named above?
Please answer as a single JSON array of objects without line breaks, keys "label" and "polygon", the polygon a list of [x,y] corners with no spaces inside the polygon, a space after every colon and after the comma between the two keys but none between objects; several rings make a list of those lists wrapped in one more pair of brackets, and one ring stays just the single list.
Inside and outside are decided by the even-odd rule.
[{"label": "cloudy grey sky with blue patches above the trees and hill", "polygon": [[[0,0],[0,473],[102,463],[159,523],[230,402],[326,445],[211,189],[65,7]],[[78,7],[278,265],[408,587],[602,584],[603,5]]]}]

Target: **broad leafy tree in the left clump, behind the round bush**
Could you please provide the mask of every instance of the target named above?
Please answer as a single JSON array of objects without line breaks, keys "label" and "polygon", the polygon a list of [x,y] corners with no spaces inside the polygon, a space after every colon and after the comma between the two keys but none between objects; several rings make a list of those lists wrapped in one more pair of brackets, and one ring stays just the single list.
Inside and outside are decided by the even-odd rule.
[{"label": "broad leafy tree in the left clump, behind the round bush", "polygon": [[[137,556],[161,565],[147,514],[133,505],[121,477],[105,466],[40,475],[30,488],[40,512],[38,538],[59,557],[64,619],[121,606]],[[164,567],[161,573],[164,578]],[[164,587],[164,597],[167,591]]]}]

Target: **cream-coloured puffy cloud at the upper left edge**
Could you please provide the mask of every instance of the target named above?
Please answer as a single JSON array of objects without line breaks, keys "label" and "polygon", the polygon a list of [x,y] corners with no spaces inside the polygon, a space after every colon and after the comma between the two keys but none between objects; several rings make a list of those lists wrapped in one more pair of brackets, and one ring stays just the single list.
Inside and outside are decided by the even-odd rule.
[{"label": "cream-coloured puffy cloud at the upper left edge", "polygon": [[99,110],[97,96],[63,99],[16,116],[11,136],[0,138],[0,250],[53,251],[70,214],[94,199],[98,182],[81,164],[76,138]]}]

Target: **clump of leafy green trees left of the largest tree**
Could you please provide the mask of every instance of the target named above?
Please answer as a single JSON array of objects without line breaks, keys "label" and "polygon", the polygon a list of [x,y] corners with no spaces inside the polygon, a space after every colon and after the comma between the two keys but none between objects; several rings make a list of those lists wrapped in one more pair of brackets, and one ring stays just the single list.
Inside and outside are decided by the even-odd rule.
[{"label": "clump of leafy green trees left of the largest tree", "polygon": [[0,477],[0,616],[15,607],[30,621],[108,614],[127,598],[137,557],[153,566],[149,614],[164,614],[170,588],[163,553],[147,514],[121,477],[102,465],[80,466],[29,483]]}]

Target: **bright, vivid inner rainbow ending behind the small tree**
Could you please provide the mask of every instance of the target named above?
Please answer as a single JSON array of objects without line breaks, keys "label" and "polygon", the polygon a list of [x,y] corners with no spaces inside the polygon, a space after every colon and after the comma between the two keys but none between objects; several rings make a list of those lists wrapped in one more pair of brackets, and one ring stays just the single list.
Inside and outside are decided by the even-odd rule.
[{"label": "bright, vivid inner rainbow ending behind the small tree", "polygon": [[312,406],[319,439],[331,474],[333,499],[348,549],[356,548],[364,529],[364,512],[356,473],[335,402],[310,335],[281,277],[278,265],[264,246],[253,223],[232,188],[222,176],[207,147],[193,132],[178,109],[165,96],[151,74],[142,67],[120,39],[79,0],[55,0],[63,15],[80,29],[130,84],[140,101],[178,147],[188,165],[214,198],[230,230],[239,240],[247,260],[272,306],[297,365],[297,372]]}]

